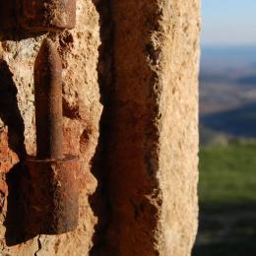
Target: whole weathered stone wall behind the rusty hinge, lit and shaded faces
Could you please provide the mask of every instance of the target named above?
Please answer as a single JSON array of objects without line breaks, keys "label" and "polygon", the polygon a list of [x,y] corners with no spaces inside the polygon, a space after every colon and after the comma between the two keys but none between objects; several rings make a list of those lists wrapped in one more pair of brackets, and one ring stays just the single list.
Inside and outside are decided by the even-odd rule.
[{"label": "whole weathered stone wall behind the rusty hinge, lit and shaded faces", "polygon": [[[198,0],[77,0],[71,31],[32,34],[0,21],[1,255],[190,255],[199,9]],[[64,149],[82,166],[80,222],[28,240],[17,184],[35,153],[32,71],[45,36],[62,59]]]}]

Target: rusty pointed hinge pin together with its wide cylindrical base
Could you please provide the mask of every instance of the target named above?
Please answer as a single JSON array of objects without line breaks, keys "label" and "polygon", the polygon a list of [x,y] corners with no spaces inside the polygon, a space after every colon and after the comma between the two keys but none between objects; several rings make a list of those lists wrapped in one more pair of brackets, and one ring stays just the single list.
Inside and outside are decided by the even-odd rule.
[{"label": "rusty pointed hinge pin together with its wide cylindrical base", "polygon": [[79,160],[64,156],[62,68],[53,42],[44,39],[34,63],[36,157],[28,157],[23,181],[27,232],[58,234],[78,225]]}]

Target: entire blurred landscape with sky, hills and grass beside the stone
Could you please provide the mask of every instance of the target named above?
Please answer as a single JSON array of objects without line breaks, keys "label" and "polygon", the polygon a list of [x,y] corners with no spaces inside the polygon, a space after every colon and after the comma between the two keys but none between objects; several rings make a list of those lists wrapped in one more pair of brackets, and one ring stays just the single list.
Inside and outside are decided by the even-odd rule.
[{"label": "entire blurred landscape with sky, hills and grass beside the stone", "polygon": [[256,255],[256,1],[202,2],[193,256]]}]

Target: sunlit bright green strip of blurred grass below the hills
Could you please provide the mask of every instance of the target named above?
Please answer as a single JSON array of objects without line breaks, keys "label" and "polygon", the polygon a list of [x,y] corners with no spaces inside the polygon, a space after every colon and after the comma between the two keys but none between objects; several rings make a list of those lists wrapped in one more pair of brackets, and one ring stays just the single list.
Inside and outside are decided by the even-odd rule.
[{"label": "sunlit bright green strip of blurred grass below the hills", "polygon": [[256,142],[204,148],[199,158],[201,205],[256,203]]}]

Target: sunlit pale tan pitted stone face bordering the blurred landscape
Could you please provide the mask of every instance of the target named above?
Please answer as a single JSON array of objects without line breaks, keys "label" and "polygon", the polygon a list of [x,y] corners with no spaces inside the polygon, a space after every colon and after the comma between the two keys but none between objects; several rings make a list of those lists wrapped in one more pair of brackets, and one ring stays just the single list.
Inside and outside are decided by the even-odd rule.
[{"label": "sunlit pale tan pitted stone face bordering the blurred landscape", "polygon": [[162,255],[188,256],[198,224],[200,4],[197,0],[167,1],[162,11],[160,252]]}]

